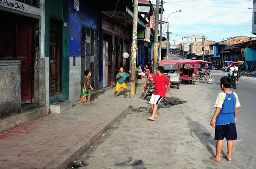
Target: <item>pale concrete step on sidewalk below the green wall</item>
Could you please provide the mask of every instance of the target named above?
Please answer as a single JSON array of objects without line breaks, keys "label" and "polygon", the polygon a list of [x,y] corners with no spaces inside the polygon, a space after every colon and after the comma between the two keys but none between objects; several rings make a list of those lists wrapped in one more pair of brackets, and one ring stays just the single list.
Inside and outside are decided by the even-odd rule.
[{"label": "pale concrete step on sidewalk below the green wall", "polygon": [[49,107],[50,113],[63,113],[73,107],[73,102],[71,100],[64,100],[64,102],[56,101],[52,103]]}]

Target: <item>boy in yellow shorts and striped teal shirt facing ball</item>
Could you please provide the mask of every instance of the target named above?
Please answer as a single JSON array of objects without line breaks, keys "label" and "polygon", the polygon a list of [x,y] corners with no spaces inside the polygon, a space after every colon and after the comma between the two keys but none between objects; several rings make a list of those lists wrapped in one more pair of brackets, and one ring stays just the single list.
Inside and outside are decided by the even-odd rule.
[{"label": "boy in yellow shorts and striped teal shirt facing ball", "polygon": [[120,68],[119,68],[119,71],[120,71],[120,72],[117,73],[117,75],[116,75],[116,80],[117,80],[117,82],[116,82],[116,90],[115,90],[115,94],[114,94],[113,97],[114,97],[114,98],[116,97],[116,93],[117,93],[117,92],[120,90],[120,88],[122,87],[122,90],[125,90],[124,97],[127,98],[127,96],[126,96],[127,87],[126,87],[126,85],[125,85],[125,79],[130,76],[131,70],[129,70],[129,74],[128,74],[128,73],[125,73],[125,72],[124,72],[124,68],[123,68],[123,67],[120,67]]}]

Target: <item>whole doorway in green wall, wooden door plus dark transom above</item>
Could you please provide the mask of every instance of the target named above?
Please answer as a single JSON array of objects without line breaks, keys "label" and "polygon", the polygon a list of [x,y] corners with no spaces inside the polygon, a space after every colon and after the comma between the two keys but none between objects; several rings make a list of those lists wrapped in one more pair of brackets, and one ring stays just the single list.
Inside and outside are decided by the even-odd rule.
[{"label": "whole doorway in green wall, wooden door plus dark transom above", "polygon": [[50,20],[50,43],[49,43],[49,94],[53,96],[60,93],[60,38],[61,22]]}]

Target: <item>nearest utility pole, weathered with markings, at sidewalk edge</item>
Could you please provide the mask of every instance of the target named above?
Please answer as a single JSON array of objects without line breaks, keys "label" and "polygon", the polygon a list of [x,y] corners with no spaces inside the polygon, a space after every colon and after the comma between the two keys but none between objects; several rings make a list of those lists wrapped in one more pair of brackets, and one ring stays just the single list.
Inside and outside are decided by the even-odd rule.
[{"label": "nearest utility pole, weathered with markings, at sidewalk edge", "polygon": [[132,45],[131,45],[131,80],[130,98],[135,98],[135,78],[136,78],[136,57],[137,57],[137,27],[138,27],[138,4],[139,0],[134,0],[134,17],[132,26]]}]

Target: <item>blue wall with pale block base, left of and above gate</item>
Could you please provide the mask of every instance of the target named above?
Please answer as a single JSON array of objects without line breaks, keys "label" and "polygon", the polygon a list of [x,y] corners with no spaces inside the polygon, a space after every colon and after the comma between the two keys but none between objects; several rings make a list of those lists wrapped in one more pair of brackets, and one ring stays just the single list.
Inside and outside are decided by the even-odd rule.
[{"label": "blue wall with pale block base, left of and above gate", "polygon": [[[69,0],[70,23],[70,95],[73,102],[80,100],[81,95],[81,27],[87,27],[99,31],[99,12],[97,6],[92,6],[87,1],[80,1],[79,12],[73,9],[74,1]],[[81,16],[80,16],[80,15]]]}]

